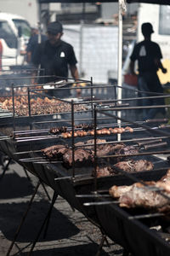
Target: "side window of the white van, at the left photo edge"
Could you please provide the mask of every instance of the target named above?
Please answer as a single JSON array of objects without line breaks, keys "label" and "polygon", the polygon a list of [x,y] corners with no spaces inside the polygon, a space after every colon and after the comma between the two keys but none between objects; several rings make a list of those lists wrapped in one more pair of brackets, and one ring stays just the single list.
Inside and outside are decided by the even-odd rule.
[{"label": "side window of the white van, at the left photo edge", "polygon": [[9,48],[17,48],[17,38],[5,20],[0,20],[0,38],[3,38]]}]

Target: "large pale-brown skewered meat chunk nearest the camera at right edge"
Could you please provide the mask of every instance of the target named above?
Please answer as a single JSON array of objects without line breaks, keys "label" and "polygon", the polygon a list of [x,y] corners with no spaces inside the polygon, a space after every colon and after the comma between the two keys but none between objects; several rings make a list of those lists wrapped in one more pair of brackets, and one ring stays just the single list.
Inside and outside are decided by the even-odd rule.
[{"label": "large pale-brown skewered meat chunk nearest the camera at right edge", "polygon": [[[144,208],[156,208],[159,211],[167,211],[170,209],[170,169],[167,174],[159,181],[133,183],[131,186],[113,186],[109,189],[109,193],[113,197],[119,197],[121,207],[144,207]],[[164,194],[168,197],[161,195],[160,193],[150,189],[150,186],[164,189]],[[162,191],[161,191],[162,193]]]}]

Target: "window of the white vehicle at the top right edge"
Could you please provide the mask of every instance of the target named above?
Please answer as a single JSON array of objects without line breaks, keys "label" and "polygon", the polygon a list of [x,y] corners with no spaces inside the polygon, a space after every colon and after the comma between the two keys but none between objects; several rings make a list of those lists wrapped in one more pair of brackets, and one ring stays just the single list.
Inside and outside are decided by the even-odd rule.
[{"label": "window of the white vehicle at the top right edge", "polygon": [[170,35],[170,6],[160,6],[159,34]]}]

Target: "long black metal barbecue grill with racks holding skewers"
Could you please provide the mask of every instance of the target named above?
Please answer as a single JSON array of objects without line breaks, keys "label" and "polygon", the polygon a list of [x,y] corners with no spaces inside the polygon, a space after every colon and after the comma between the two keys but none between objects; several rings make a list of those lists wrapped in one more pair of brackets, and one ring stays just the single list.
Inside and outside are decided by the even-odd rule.
[{"label": "long black metal barbecue grill with racks holding skewers", "polygon": [[[90,87],[91,88],[91,87]],[[110,87],[111,88],[111,87]],[[58,90],[58,89],[55,89]],[[65,88],[59,90],[65,90]],[[75,89],[73,89],[75,90]],[[41,89],[33,89],[29,88],[29,93],[34,93],[44,96],[44,90]],[[48,96],[50,98],[50,96]],[[53,96],[54,97],[54,96]],[[167,96],[162,96],[167,97]],[[13,94],[14,98],[14,94]],[[56,99],[56,97],[54,97]],[[28,96],[29,99],[29,96]],[[97,158],[96,158],[96,139],[97,139],[97,131],[102,130],[102,128],[111,128],[111,127],[117,127],[117,112],[120,111],[128,111],[131,109],[138,109],[138,107],[130,106],[129,104],[124,104],[124,102],[133,102],[133,99],[125,99],[125,101],[122,101],[121,105],[118,105],[116,100],[110,100],[110,101],[99,101],[94,98],[93,95],[91,95],[90,100],[62,100],[58,99],[61,102],[67,102],[71,105],[71,112],[69,113],[61,113],[61,119],[49,119],[46,117],[46,115],[42,114],[42,120],[41,119],[33,119],[34,116],[31,114],[31,106],[30,106],[30,99],[28,100],[29,105],[29,116],[23,117],[23,119],[26,119],[26,127],[29,127],[32,129],[32,125],[35,125],[35,127],[38,127],[38,130],[34,128],[34,130],[25,130],[22,129],[22,131],[18,131],[16,128],[16,124],[19,119],[15,116],[13,111],[13,117],[11,120],[14,121],[14,134],[12,137],[4,136],[1,138],[0,147],[3,152],[9,155],[12,159],[19,162],[22,166],[25,166],[28,171],[39,177],[44,183],[48,184],[51,188],[54,189],[55,194],[61,195],[63,198],[65,198],[66,201],[68,201],[72,207],[77,208],[79,211],[81,211],[88,219],[90,219],[93,223],[98,225],[101,230],[105,230],[105,234],[110,236],[111,239],[114,241],[117,241],[118,243],[122,244],[123,247],[127,248],[127,250],[136,253],[135,249],[133,248],[133,245],[130,242],[124,242],[121,236],[125,237],[125,241],[127,240],[125,234],[122,235],[124,229],[120,231],[120,233],[113,232],[112,229],[109,229],[108,226],[105,224],[105,220],[107,218],[104,217],[104,212],[106,210],[111,213],[109,216],[113,216],[114,219],[125,219],[125,222],[131,227],[131,222],[135,222],[134,220],[129,221],[129,219],[125,218],[124,215],[127,213],[124,213],[122,209],[120,209],[117,206],[93,206],[93,207],[85,207],[83,206],[83,202],[87,201],[87,199],[84,198],[77,198],[76,195],[86,195],[90,194],[91,191],[98,191],[103,189],[109,189],[110,184],[116,183],[117,180],[119,180],[120,183],[129,183],[129,180],[127,178],[122,177],[122,175],[116,175],[112,177],[99,177],[98,179],[95,177],[96,175],[96,166],[97,166]],[[114,105],[113,105],[114,104]],[[124,104],[124,105],[123,105]],[[76,105],[85,105],[88,106],[88,110],[82,110],[80,112],[75,112],[75,106]],[[161,106],[162,107],[162,106]],[[165,107],[165,106],[164,106]],[[167,108],[169,105],[166,106]],[[157,106],[156,106],[157,108]],[[100,116],[97,119],[96,117],[96,109],[98,112],[100,112]],[[13,108],[14,110],[14,108]],[[107,116],[105,117],[105,112],[108,112]],[[88,112],[88,116],[84,118],[84,113]],[[60,114],[60,113],[59,113]],[[50,115],[50,117],[53,116]],[[40,118],[40,115],[37,115],[37,118]],[[47,118],[47,119],[46,119]],[[80,130],[80,128],[75,128],[75,125],[79,125],[83,122],[87,122],[88,125],[94,125],[94,135],[89,135],[84,137],[74,137],[75,132],[77,130]],[[132,176],[139,176],[141,175],[142,179],[147,179],[147,177],[150,177],[153,173],[153,175],[158,176],[158,174],[162,174],[166,172],[168,168],[168,162],[162,161],[161,163],[158,161],[158,159],[153,156],[153,154],[169,154],[170,150],[169,147],[169,132],[168,132],[168,125],[167,121],[168,119],[156,119],[156,120],[147,120],[147,121],[137,121],[137,122],[131,122],[127,119],[121,118],[122,120],[122,127],[125,127],[127,125],[131,125],[133,128],[133,133],[130,131],[125,131],[121,134],[121,141],[117,141],[117,133],[115,135],[113,134],[100,134],[99,137],[106,139],[106,143],[104,144],[115,144],[115,143],[127,143],[128,145],[134,145],[134,148],[139,148],[139,144],[141,145],[139,152],[136,154],[115,154],[115,155],[103,155],[102,159],[105,159],[106,162],[108,158],[110,159],[116,159],[118,157],[121,157],[124,159],[125,157],[130,157],[135,160],[135,158],[146,158],[147,160],[151,160],[154,162],[157,162],[155,164],[155,170],[153,172],[143,172],[137,174],[132,174]],[[97,123],[98,121],[98,123]],[[162,126],[162,123],[166,123],[166,125]],[[30,126],[31,124],[31,126]],[[69,132],[72,131],[72,136],[70,138],[65,138],[59,134],[51,134],[50,133],[50,127],[53,127],[54,125],[61,126],[65,125],[67,127],[67,130]],[[48,128],[47,128],[48,127]],[[91,127],[90,127],[91,128]],[[132,139],[133,134],[133,139]],[[89,165],[88,168],[80,168],[77,167],[74,160],[74,154],[76,148],[78,146],[75,146],[75,143],[77,142],[85,142],[88,139],[94,138],[93,148],[94,148],[94,164],[91,166]],[[151,141],[149,143],[149,141]],[[141,143],[143,142],[143,144]],[[153,146],[153,142],[155,142],[156,145]],[[71,168],[65,168],[63,166],[61,160],[49,160],[47,159],[43,154],[41,149],[47,148],[49,146],[53,146],[55,143],[59,144],[68,144],[70,148],[72,148],[72,166]],[[103,143],[100,143],[103,144]],[[85,148],[89,146],[84,146]],[[79,146],[80,147],[80,146]],[[155,148],[156,147],[156,148]],[[161,148],[160,148],[161,147]],[[165,147],[165,148],[164,148]],[[95,168],[94,168],[95,166]],[[156,171],[156,169],[158,169]],[[94,174],[93,174],[94,171]],[[108,196],[108,195],[107,195]],[[56,198],[56,195],[55,195]],[[98,201],[100,199],[97,199]],[[89,201],[89,200],[88,200]],[[96,201],[95,198],[92,198],[92,201]],[[98,202],[97,201],[97,202]],[[105,201],[105,196],[101,196],[101,201]],[[116,207],[116,210],[115,210]],[[102,208],[101,212],[102,214],[99,215],[99,208]],[[112,210],[114,209],[114,210]],[[98,213],[96,215],[96,212]],[[118,213],[116,213],[118,212]],[[107,213],[107,212],[106,212]],[[108,213],[108,214],[109,214]],[[117,218],[115,216],[118,216]],[[123,216],[123,217],[122,217]],[[126,215],[127,216],[127,215]],[[106,215],[107,217],[107,215]],[[103,219],[103,220],[102,220]],[[110,219],[110,218],[109,218]],[[119,221],[119,219],[118,219]],[[115,224],[116,221],[114,221]],[[121,222],[121,220],[119,221]],[[124,225],[124,224],[123,224]],[[137,226],[137,228],[136,228]],[[135,226],[134,230],[140,230],[141,234],[143,232],[146,232],[150,234],[150,230],[148,231],[147,228],[141,228],[141,224],[139,223]],[[145,234],[145,233],[144,233]],[[113,236],[115,235],[115,236]],[[152,235],[149,235],[152,237]],[[142,235],[143,237],[143,235]],[[150,238],[152,240],[152,238]],[[154,240],[154,239],[153,239]],[[158,239],[159,240],[159,239]],[[160,238],[161,240],[161,238]],[[161,248],[161,246],[164,244],[164,241],[161,240],[160,245],[158,246],[158,250]],[[167,244],[167,243],[166,243]],[[144,243],[143,243],[144,245]],[[164,246],[162,246],[164,247]],[[165,246],[166,249],[168,249],[167,246]],[[165,250],[166,250],[165,249]],[[163,249],[164,250],[164,249]],[[146,254],[147,255],[147,254]],[[149,254],[148,254],[149,255]],[[150,254],[152,255],[152,254]],[[158,254],[155,254],[158,255]]]}]

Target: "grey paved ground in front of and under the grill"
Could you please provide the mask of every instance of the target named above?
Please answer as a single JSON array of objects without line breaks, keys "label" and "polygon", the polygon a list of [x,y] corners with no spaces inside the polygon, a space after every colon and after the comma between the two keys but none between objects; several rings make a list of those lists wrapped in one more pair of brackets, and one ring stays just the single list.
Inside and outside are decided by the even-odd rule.
[{"label": "grey paved ground in front of and under the grill", "polygon": [[[37,183],[36,177],[29,175],[31,181],[26,178],[22,167],[12,164],[0,180],[0,256],[6,255]],[[48,188],[48,193],[52,196],[52,189]],[[10,255],[27,255],[48,207],[48,197],[41,186]],[[99,230],[82,213],[73,212],[68,203],[59,197],[54,204],[48,234],[45,239],[40,237],[32,255],[93,256],[98,251],[100,240]],[[122,247],[110,239],[108,241],[110,247],[105,244],[100,255],[122,256]]]}]

